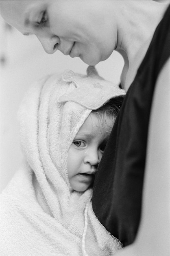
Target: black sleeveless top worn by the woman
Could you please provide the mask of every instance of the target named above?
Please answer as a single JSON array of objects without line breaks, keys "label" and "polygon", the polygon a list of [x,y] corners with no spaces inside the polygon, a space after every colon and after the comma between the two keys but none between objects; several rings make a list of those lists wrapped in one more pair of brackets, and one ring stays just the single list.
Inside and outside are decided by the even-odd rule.
[{"label": "black sleeveless top worn by the woman", "polygon": [[169,57],[170,6],[126,94],[94,182],[94,213],[124,246],[133,243],[139,226],[150,109]]}]

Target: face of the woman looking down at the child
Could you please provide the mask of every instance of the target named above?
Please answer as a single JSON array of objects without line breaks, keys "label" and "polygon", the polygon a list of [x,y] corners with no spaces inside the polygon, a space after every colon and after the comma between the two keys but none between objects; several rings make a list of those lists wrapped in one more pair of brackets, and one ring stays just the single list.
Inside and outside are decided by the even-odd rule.
[{"label": "face of the woman looking down at the child", "polygon": [[49,54],[59,49],[96,65],[107,59],[116,45],[113,28],[102,16],[107,12],[105,1],[0,2],[2,17],[22,34],[35,34]]}]

